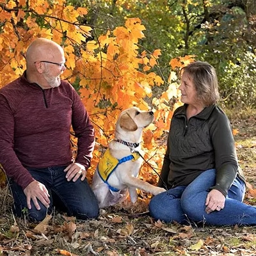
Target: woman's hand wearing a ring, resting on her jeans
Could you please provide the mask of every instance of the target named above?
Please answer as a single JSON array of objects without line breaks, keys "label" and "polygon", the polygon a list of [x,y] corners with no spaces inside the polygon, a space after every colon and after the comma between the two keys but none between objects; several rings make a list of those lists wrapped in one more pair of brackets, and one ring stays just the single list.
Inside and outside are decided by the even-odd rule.
[{"label": "woman's hand wearing a ring, resting on her jeans", "polygon": [[212,189],[205,201],[205,212],[221,211],[225,207],[225,196],[217,189]]}]

